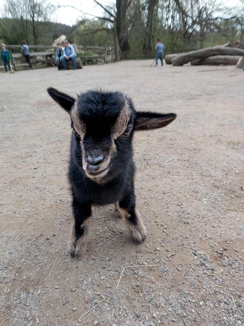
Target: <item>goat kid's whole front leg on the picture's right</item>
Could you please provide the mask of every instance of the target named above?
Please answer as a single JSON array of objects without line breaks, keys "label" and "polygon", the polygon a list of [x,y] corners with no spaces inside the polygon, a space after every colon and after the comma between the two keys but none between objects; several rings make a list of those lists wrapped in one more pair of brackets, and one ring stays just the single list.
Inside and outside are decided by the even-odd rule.
[{"label": "goat kid's whole front leg on the picture's right", "polygon": [[135,209],[135,195],[129,194],[117,203],[117,208],[123,216],[132,237],[142,242],[146,237],[146,228],[139,213]]}]

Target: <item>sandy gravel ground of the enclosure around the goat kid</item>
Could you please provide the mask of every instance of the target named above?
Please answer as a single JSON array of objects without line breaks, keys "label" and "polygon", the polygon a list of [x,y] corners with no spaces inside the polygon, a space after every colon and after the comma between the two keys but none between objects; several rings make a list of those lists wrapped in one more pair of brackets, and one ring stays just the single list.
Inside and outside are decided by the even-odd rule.
[{"label": "sandy gravel ground of the enclosure around the goat kid", "polygon": [[[244,325],[244,73],[150,64],[0,75],[1,326]],[[71,129],[49,86],[119,90],[137,110],[177,113],[134,137],[144,243],[112,205],[97,207],[85,259],[70,258]],[[135,265],[159,266],[125,269],[116,290]]]}]

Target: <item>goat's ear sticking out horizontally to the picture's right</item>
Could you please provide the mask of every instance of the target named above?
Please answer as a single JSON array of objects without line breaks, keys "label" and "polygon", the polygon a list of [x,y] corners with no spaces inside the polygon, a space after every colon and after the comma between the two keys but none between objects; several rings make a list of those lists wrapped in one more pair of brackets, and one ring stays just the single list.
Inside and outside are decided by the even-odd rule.
[{"label": "goat's ear sticking out horizontally to the picture's right", "polygon": [[176,118],[175,113],[136,112],[134,131],[162,128]]}]

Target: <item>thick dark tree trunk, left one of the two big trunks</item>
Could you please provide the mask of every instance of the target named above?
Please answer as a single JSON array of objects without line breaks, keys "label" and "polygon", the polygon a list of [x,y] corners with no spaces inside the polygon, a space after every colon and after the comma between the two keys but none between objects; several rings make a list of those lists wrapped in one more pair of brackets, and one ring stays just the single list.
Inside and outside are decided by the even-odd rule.
[{"label": "thick dark tree trunk, left one of the two big trunks", "polygon": [[128,0],[116,0],[116,31],[121,51],[129,51],[129,40],[128,40],[128,24],[126,12],[128,8]]}]

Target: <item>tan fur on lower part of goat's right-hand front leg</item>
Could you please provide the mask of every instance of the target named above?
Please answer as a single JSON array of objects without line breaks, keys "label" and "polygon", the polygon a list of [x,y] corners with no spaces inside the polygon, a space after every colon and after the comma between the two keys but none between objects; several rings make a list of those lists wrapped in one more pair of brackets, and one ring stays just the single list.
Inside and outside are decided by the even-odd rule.
[{"label": "tan fur on lower part of goat's right-hand front leg", "polygon": [[122,209],[121,207],[119,207],[119,211],[123,216],[125,224],[127,225],[132,237],[138,242],[142,242],[143,240],[145,240],[146,228],[141,220],[139,213],[135,211],[137,217],[137,225],[133,225],[132,223],[129,222],[130,214],[126,212],[124,209]]}]

